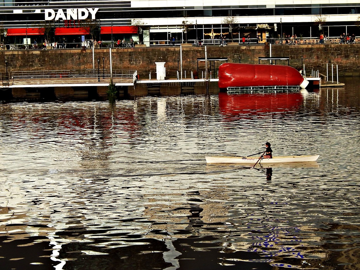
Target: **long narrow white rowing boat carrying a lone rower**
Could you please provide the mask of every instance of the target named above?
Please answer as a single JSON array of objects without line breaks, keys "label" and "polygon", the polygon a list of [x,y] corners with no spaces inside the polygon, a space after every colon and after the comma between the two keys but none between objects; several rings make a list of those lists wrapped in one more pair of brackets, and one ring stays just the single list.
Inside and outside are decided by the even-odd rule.
[{"label": "long narrow white rowing boat carrying a lone rower", "polygon": [[[255,164],[259,158],[248,157],[205,157],[206,163],[244,163]],[[316,161],[319,155],[306,155],[306,156],[279,156],[273,158],[261,158],[259,163],[288,163],[288,162],[310,162]]]}]

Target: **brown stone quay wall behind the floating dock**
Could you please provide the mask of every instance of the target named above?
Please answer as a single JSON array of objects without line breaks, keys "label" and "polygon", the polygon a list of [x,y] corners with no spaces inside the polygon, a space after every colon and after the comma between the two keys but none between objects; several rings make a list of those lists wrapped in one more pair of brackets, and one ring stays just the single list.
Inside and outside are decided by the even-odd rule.
[{"label": "brown stone quay wall behind the floating dock", "polygon": [[[301,67],[301,56],[306,70],[318,70],[326,74],[326,63],[338,64],[339,75],[360,76],[360,44],[312,44],[312,45],[272,45],[273,57],[290,57],[290,65]],[[228,57],[228,62],[258,63],[258,57],[269,56],[269,46],[207,46],[208,58]],[[183,70],[197,70],[197,58],[205,57],[204,47],[183,47]],[[109,69],[109,49],[95,49],[95,69]],[[141,77],[148,77],[156,71],[155,62],[166,62],[167,72],[176,72],[180,59],[179,47],[147,47],[112,49],[113,69],[136,69]],[[93,68],[93,52],[81,49],[67,50],[0,50],[0,72],[5,73],[5,59],[8,72],[34,70],[60,70]],[[215,62],[215,69],[223,62]],[[266,63],[266,62],[263,62]],[[287,61],[277,61],[287,64]],[[180,60],[179,60],[180,69]],[[199,70],[204,62],[199,62]],[[155,75],[154,75],[155,76]]]}]

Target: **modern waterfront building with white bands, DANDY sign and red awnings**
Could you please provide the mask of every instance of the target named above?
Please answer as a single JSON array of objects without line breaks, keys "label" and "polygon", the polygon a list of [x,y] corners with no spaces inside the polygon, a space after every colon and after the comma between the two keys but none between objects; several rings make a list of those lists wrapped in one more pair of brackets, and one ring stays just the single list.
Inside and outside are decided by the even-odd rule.
[{"label": "modern waterfront building with white bands, DANDY sign and red awnings", "polygon": [[181,43],[221,36],[265,42],[321,32],[359,36],[359,16],[359,0],[0,0],[0,33],[5,44],[47,38],[79,46],[93,38],[108,46],[133,38],[152,46],[167,45],[172,37]]}]

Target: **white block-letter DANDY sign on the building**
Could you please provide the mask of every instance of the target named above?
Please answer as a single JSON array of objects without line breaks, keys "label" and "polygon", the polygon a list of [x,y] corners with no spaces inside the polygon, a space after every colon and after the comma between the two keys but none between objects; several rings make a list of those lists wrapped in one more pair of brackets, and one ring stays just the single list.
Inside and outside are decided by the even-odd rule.
[{"label": "white block-letter DANDY sign on the building", "polygon": [[63,9],[58,9],[58,12],[55,12],[54,9],[45,9],[45,21],[50,20],[84,20],[91,15],[90,19],[95,19],[95,14],[98,12],[99,8],[67,8],[64,12]]}]

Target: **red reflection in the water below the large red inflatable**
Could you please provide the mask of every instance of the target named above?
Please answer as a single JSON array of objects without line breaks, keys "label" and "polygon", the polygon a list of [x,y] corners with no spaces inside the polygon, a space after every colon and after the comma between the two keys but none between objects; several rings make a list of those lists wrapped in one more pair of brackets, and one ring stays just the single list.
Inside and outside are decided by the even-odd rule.
[{"label": "red reflection in the water below the large red inflatable", "polygon": [[227,94],[219,93],[220,113],[227,116],[281,113],[297,110],[302,104],[300,93]]}]

